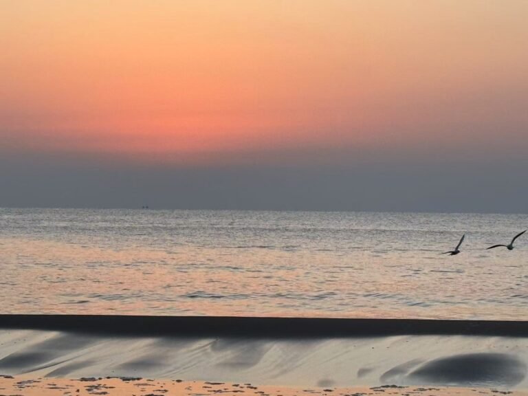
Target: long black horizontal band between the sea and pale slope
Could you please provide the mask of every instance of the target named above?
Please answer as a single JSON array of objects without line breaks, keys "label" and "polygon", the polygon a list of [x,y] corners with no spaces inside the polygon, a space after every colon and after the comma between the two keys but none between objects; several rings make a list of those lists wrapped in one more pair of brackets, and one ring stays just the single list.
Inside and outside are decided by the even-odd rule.
[{"label": "long black horizontal band between the sea and pale slope", "polygon": [[0,329],[69,331],[120,336],[333,338],[361,336],[528,337],[528,321],[248,316],[0,314]]}]

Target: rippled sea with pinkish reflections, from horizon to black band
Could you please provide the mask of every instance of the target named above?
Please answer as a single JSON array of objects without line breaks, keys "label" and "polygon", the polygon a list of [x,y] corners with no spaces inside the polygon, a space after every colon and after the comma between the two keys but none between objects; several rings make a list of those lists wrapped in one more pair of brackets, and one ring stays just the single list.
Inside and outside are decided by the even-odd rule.
[{"label": "rippled sea with pinkish reflections, from horizon to black band", "polygon": [[[528,320],[528,215],[0,209],[2,313]],[[443,256],[466,233],[462,252]]]}]

